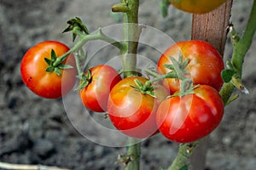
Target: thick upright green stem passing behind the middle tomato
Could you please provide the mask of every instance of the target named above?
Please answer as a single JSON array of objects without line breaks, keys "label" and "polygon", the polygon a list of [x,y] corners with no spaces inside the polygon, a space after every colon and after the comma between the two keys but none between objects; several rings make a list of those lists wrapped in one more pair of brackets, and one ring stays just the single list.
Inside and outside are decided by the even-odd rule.
[{"label": "thick upright green stem passing behind the middle tomato", "polygon": [[[122,54],[122,64],[124,76],[131,77],[134,76],[137,65],[137,46],[140,36],[139,27],[137,25],[139,0],[121,0],[121,3],[126,3],[128,7],[123,17],[123,35],[127,51]],[[128,162],[125,166],[125,170],[139,170],[140,168],[141,142],[134,144],[134,140],[136,139],[128,139],[127,155],[135,159]]]}]

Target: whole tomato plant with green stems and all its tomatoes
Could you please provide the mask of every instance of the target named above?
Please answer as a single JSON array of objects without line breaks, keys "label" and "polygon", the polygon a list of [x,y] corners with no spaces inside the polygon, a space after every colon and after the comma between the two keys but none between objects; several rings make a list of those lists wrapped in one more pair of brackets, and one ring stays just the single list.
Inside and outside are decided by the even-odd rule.
[{"label": "whole tomato plant with green stems and all its tomatoes", "polygon": [[[202,14],[207,13],[214,8],[218,8],[218,6],[224,2],[226,2],[226,0],[212,2],[202,0],[165,0],[163,1],[164,7],[162,8],[166,8],[169,3],[172,3],[172,5],[183,11]],[[231,3],[232,1],[230,1],[229,4],[231,5]],[[231,96],[234,89],[238,88],[241,92],[246,91],[241,82],[241,71],[245,54],[253,41],[252,38],[256,30],[255,22],[253,22],[256,16],[256,1],[253,3],[247,27],[241,37],[233,26],[228,26],[229,21],[227,19],[230,17],[230,6],[228,3],[216,14],[202,14],[200,15],[202,18],[198,17],[199,15],[194,15],[195,18],[197,16],[198,18],[203,19],[201,22],[199,22],[199,20],[193,20],[195,24],[203,23],[200,24],[200,26],[192,26],[194,31],[201,31],[200,34],[202,37],[198,35],[195,37],[207,39],[207,41],[213,42],[212,44],[215,47],[221,46],[222,48],[218,48],[219,51],[224,49],[223,42],[225,40],[225,32],[230,31],[234,51],[230,62],[227,62],[230,63],[230,65],[227,65],[227,70],[223,71],[223,60],[221,59],[220,54],[218,54],[218,51],[209,43],[202,41],[177,42],[175,45],[168,48],[160,57],[157,71],[161,75],[148,69],[153,73],[154,81],[148,81],[148,79],[144,77],[134,77],[136,75],[135,72],[140,69],[137,69],[137,47],[140,40],[140,33],[143,31],[142,28],[147,27],[137,26],[139,4],[138,0],[122,0],[120,3],[113,5],[112,12],[122,12],[124,14],[123,41],[116,41],[112,37],[108,37],[102,32],[102,29],[99,29],[95,33],[90,33],[82,23],[82,20],[78,17],[67,21],[69,26],[64,32],[72,31],[73,41],[76,37],[79,37],[78,42],[75,42],[73,48],[69,50],[70,53],[74,52],[76,54],[75,59],[77,64],[80,64],[79,55],[84,54],[82,46],[85,42],[103,40],[119,48],[124,77],[128,77],[114,83],[115,85],[112,89],[104,89],[106,84],[107,87],[109,83],[112,84],[112,82],[108,82],[109,77],[111,76],[107,75],[103,77],[103,74],[96,76],[93,68],[85,74],[80,74],[81,70],[79,69],[79,65],[77,65],[79,76],[84,75],[84,77],[86,77],[86,81],[82,82],[82,84],[84,83],[86,86],[81,90],[80,96],[84,105],[88,108],[91,107],[90,109],[94,111],[106,111],[107,100],[108,116],[111,122],[113,122],[113,126],[128,136],[134,138],[146,138],[158,133],[160,130],[167,139],[180,143],[189,143],[180,144],[177,158],[173,161],[172,166],[168,168],[186,169],[188,168],[187,159],[191,156],[192,151],[195,150],[196,145],[199,144],[199,142],[195,140],[201,139],[211,133],[222,119],[224,105],[228,105],[230,102],[237,99],[238,95]],[[218,26],[212,27],[212,25],[209,25],[209,23],[215,24],[216,19],[218,20],[218,17],[222,16],[224,16],[224,20],[221,18],[222,20],[219,20],[220,24]],[[128,25],[128,23],[134,24]],[[225,30],[227,26],[228,29]],[[204,27],[204,29],[197,29],[199,27]],[[207,27],[209,29],[205,29]],[[193,36],[193,34],[195,35],[194,31],[192,30],[193,38],[195,38]],[[209,34],[209,32],[214,32],[214,34]],[[218,40],[220,41],[218,42]],[[44,71],[38,69],[39,67],[41,68],[41,64],[43,65],[42,59],[39,60],[36,55],[38,52],[42,53],[39,49],[35,50],[37,52],[35,54],[27,54],[32,55],[33,57],[26,57],[28,59],[23,59],[24,61],[22,60],[20,69],[22,78],[26,85],[36,94],[41,96],[44,95],[44,97],[47,98],[55,98],[56,96],[60,96],[52,96],[53,94],[60,94],[60,88],[57,88],[58,86],[55,85],[55,81],[60,77],[62,79],[66,71],[73,72],[73,67],[75,66],[73,63],[67,64],[67,59],[63,59],[61,62],[55,62],[55,58],[61,54],[58,54],[58,50],[55,48],[51,48],[54,50],[48,52],[48,55],[44,54],[44,60],[46,61],[44,62],[44,66],[42,66]],[[54,52],[56,52],[56,54]],[[47,58],[47,56],[51,56],[51,59]],[[72,55],[70,55],[70,57],[71,56]],[[34,58],[36,58],[35,61],[33,60]],[[177,62],[175,59],[182,62]],[[29,62],[30,60],[38,62],[38,65],[35,65],[34,67],[31,66]],[[66,69],[64,69],[64,67]],[[38,77],[35,77],[32,73],[32,68],[41,71],[41,74],[39,74]],[[148,73],[150,71],[148,71]],[[224,85],[220,76],[221,71],[222,75],[225,77]],[[104,73],[106,72],[108,71],[105,71]],[[53,77],[53,75],[55,75],[54,79],[47,81],[51,82],[51,84],[44,81],[47,78],[44,78],[44,74],[47,75],[47,77]],[[108,78],[107,82],[104,81],[104,78]],[[166,88],[163,88],[161,85],[152,85],[153,82],[162,80],[163,78],[165,78],[165,80],[163,80],[164,86],[167,90],[170,89],[172,94],[174,94],[168,99],[166,99],[166,96],[168,95]],[[148,82],[150,86],[146,86]],[[193,84],[197,84],[198,86],[193,86]],[[90,85],[92,86],[91,91],[89,90],[91,94],[89,93],[89,97],[85,97],[87,95],[86,88],[89,88]],[[73,79],[68,79],[67,86],[73,87]],[[110,86],[112,87],[112,85]],[[221,87],[222,89],[220,90]],[[40,89],[39,91],[38,88]],[[96,90],[94,91],[93,89]],[[102,91],[98,92],[97,90]],[[107,90],[107,92],[105,90]],[[111,92],[108,95],[110,90]],[[222,98],[218,94],[219,90]],[[86,102],[89,104],[86,104]],[[121,158],[124,158],[121,162],[125,163],[125,169],[139,169],[139,157],[141,153],[139,149],[140,144],[141,143],[137,142],[137,140],[128,138],[127,155],[120,156]]]}]

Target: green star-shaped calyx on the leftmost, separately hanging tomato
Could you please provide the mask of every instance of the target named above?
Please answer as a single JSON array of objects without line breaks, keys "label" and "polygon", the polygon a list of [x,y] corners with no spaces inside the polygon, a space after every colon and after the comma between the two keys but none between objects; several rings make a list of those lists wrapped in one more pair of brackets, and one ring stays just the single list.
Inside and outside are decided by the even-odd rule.
[{"label": "green star-shaped calyx on the leftmost, separately hanging tomato", "polygon": [[[57,58],[55,50],[51,49],[50,59],[44,58],[44,61],[48,64],[45,71],[55,72],[58,76],[61,76],[61,69],[72,69],[72,65],[63,65],[63,61],[67,59],[68,54],[64,54],[60,58]],[[55,64],[57,62],[57,64]]]}]

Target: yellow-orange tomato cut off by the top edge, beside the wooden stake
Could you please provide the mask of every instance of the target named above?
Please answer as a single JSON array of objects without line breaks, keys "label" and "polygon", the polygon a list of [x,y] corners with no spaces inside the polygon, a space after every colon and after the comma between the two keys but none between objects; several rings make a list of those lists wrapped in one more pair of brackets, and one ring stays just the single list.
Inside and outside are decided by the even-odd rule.
[{"label": "yellow-orange tomato cut off by the top edge, beside the wooden stake", "polygon": [[227,0],[169,0],[176,8],[193,14],[204,14],[218,8]]}]

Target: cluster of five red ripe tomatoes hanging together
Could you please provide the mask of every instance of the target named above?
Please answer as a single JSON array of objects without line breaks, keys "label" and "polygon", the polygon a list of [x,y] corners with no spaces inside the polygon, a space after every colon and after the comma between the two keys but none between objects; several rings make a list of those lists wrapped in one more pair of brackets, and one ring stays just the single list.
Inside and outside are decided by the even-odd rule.
[{"label": "cluster of five red ripe tomatoes hanging together", "polygon": [[[40,42],[30,48],[21,61],[23,82],[35,94],[60,98],[73,89],[78,71],[73,54],[58,62],[69,48],[61,42]],[[149,82],[147,77],[125,77],[109,65],[97,65],[83,74],[79,95],[91,111],[108,112],[113,126],[134,138],[162,133],[180,143],[201,139],[215,129],[224,114],[218,90],[223,81],[223,59],[207,42],[177,42],[160,56],[157,72],[174,71],[172,58],[188,59],[183,66],[193,85],[180,94],[178,78]]]}]

